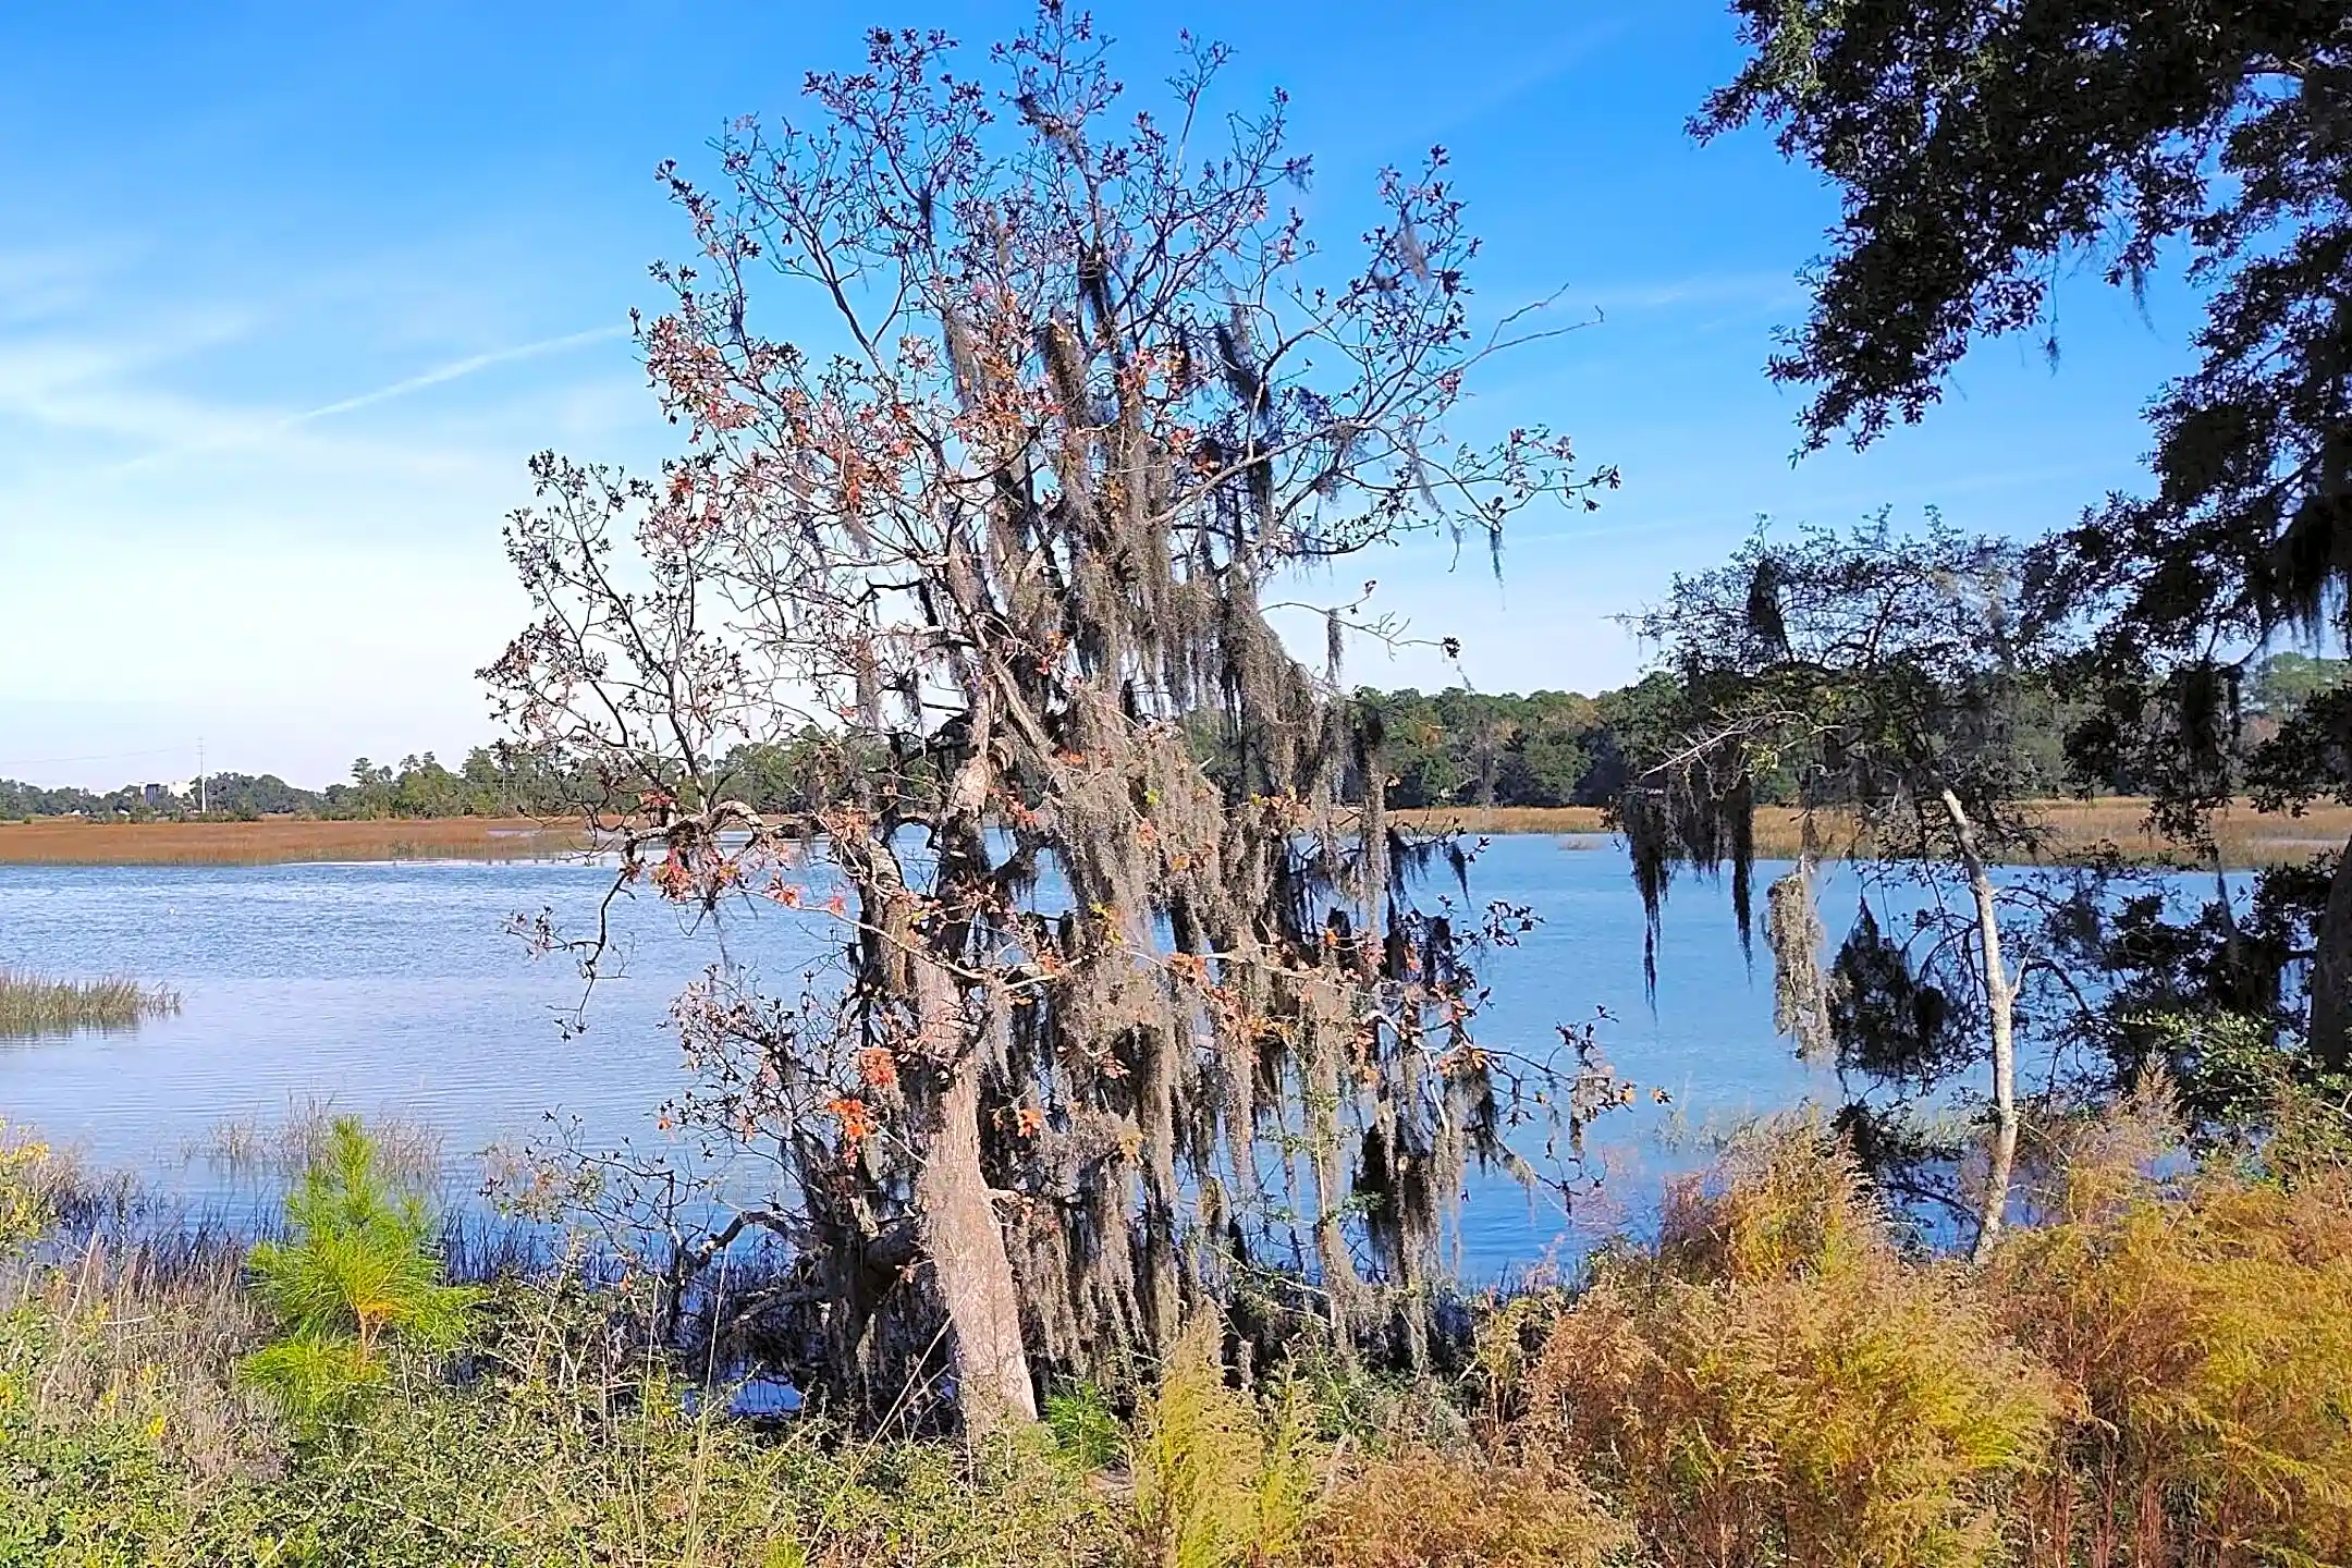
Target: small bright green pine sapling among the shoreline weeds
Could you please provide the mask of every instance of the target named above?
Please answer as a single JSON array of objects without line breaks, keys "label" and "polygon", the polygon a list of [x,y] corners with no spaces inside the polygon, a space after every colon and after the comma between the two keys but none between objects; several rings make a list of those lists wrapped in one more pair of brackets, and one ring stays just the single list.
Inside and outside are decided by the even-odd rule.
[{"label": "small bright green pine sapling among the shoreline weeds", "polygon": [[303,1418],[329,1415],[381,1380],[383,1338],[416,1349],[456,1345],[473,1293],[442,1284],[426,1206],[400,1194],[355,1117],[287,1197],[285,1244],[252,1251],[254,1288],[285,1324],[245,1373]]}]

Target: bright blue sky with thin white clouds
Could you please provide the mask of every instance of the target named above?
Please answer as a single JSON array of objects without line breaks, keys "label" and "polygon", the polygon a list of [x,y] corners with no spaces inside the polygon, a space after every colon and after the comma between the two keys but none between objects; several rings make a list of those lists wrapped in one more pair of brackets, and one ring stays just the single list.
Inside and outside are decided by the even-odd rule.
[{"label": "bright blue sky with thin white clouds", "polygon": [[[487,741],[473,670],[524,604],[499,520],[541,447],[652,463],[626,320],[684,249],[652,179],[708,172],[741,113],[790,110],[875,24],[976,45],[1018,5],[75,5],[0,9],[0,776],[113,785],[214,766],[296,783],[355,755]],[[1978,350],[1947,404],[1863,456],[1790,463],[1764,381],[1835,216],[1762,132],[1684,118],[1736,66],[1715,0],[1200,5],[1096,12],[1122,73],[1178,26],[1240,49],[1237,101],[1291,92],[1310,221],[1362,226],[1385,162],[1454,153],[1494,306],[1566,287],[1599,324],[1494,367],[1477,418],[1569,430],[1625,489],[1529,515],[1484,559],[1367,562],[1461,635],[1484,689],[1639,668],[1611,616],[1719,559],[1759,512],[1940,505],[2039,531],[2147,444],[2194,301],[2060,287],[2065,357]],[[1348,574],[1350,581],[1355,574]],[[1435,661],[1355,679],[1446,684]]]}]

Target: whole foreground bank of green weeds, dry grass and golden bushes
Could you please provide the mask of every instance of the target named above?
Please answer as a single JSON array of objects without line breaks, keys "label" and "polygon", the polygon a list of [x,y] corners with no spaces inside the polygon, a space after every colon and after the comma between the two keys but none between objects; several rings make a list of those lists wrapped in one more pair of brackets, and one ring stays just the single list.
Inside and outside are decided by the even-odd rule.
[{"label": "whole foreground bank of green weeds, dry grass and golden bushes", "polygon": [[[270,1286],[327,1218],[256,1251],[59,1234],[82,1178],[0,1126],[0,1563],[2345,1561],[2352,1143],[2159,1182],[2166,1147],[2157,1121],[2082,1128],[1966,1269],[1783,1128],[1576,1288],[1475,1302],[1472,1375],[1301,1333],[1235,1378],[1202,1314],[1134,1382],[1063,1382],[969,1446],[734,1418],[703,1356],[633,1328],[649,1274],[447,1293],[416,1237],[426,1279],[386,1300],[433,1295],[454,1338],[388,1316],[353,1349],[341,1307],[303,1328],[310,1298]],[[261,1375],[322,1347],[367,1373],[332,1403]]]}]

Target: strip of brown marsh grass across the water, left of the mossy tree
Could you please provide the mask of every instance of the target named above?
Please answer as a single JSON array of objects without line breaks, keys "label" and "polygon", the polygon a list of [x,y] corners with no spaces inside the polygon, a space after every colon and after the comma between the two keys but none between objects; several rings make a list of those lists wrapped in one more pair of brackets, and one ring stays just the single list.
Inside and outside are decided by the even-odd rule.
[{"label": "strip of brown marsh grass across the water, left of the mossy tree", "polygon": [[581,830],[534,818],[327,823],[0,823],[0,865],[287,865],[301,860],[536,860],[576,853]]}]

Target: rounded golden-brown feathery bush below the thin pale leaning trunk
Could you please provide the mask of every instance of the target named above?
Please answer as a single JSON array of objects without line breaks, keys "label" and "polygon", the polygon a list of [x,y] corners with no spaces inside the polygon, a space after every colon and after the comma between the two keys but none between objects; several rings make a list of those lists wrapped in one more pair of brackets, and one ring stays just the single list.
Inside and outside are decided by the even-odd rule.
[{"label": "rounded golden-brown feathery bush below the thin pale leaning trunk", "polygon": [[1811,1128],[1668,1199],[1559,1314],[1522,1443],[1661,1563],[1983,1563],[2060,1394],[1955,1265],[1912,1262]]}]

